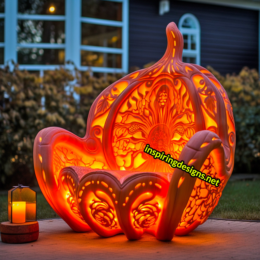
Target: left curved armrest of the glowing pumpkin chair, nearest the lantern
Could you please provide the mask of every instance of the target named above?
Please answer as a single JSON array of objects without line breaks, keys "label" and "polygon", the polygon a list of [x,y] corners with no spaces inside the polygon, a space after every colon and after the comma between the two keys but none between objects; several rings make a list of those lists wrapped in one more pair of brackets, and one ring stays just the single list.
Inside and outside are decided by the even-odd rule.
[{"label": "left curved armrest of the glowing pumpkin chair, nearest the lantern", "polygon": [[59,177],[60,171],[66,166],[87,166],[91,158],[83,158],[82,154],[86,153],[83,138],[59,127],[41,130],[34,141],[34,168],[42,193],[54,211],[78,232],[91,229],[72,210],[72,205],[75,207],[70,202],[73,194],[68,196],[70,192],[66,186],[64,188]]}]

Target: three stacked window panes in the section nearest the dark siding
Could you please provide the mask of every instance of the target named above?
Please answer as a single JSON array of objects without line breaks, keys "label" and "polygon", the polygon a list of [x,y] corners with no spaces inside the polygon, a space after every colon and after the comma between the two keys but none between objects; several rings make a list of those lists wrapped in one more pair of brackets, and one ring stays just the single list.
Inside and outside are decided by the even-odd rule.
[{"label": "three stacked window panes in the section nearest the dark siding", "polygon": [[81,66],[122,68],[122,3],[82,0],[81,9]]}]

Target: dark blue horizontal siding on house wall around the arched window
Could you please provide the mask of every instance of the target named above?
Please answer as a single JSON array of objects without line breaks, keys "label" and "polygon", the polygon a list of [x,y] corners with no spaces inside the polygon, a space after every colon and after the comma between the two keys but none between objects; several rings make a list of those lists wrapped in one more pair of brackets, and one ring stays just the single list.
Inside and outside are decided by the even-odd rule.
[{"label": "dark blue horizontal siding on house wall around the arched window", "polygon": [[159,16],[159,1],[129,0],[129,68],[158,61],[164,54],[168,23],[192,13],[201,28],[201,65],[221,74],[243,66],[258,69],[258,11],[171,1],[170,12]]}]

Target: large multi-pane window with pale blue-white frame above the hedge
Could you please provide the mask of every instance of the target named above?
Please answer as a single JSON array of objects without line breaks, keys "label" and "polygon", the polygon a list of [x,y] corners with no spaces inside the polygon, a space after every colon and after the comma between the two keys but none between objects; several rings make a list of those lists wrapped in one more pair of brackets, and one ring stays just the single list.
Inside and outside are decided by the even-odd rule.
[{"label": "large multi-pane window with pale blue-white frame above the hedge", "polygon": [[0,64],[10,60],[127,72],[128,0],[0,0]]}]

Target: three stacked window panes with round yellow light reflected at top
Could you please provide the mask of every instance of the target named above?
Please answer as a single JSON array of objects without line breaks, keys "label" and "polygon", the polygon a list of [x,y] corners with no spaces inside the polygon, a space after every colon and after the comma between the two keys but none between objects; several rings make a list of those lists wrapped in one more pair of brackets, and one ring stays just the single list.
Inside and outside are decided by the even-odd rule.
[{"label": "three stacked window panes with round yellow light reflected at top", "polygon": [[[16,51],[19,64],[64,64],[64,6],[65,0],[18,0]],[[46,15],[49,18],[46,19]],[[52,15],[60,15],[62,21],[53,21]]]}]

